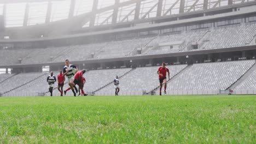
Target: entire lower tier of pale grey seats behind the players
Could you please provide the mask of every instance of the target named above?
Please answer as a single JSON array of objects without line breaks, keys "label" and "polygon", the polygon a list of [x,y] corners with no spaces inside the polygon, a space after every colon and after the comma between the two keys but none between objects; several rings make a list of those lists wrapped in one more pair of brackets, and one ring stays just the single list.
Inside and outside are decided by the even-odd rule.
[{"label": "entire lower tier of pale grey seats behind the players", "polygon": [[[214,62],[193,64],[187,67],[183,65],[168,65],[170,77],[168,81],[167,92],[170,91],[212,91],[225,90],[243,76],[253,65],[255,60]],[[113,80],[115,75],[120,79],[120,91],[123,92],[146,92],[149,93],[156,89],[159,93],[159,81],[156,67],[140,67],[136,69],[100,69],[90,70],[84,74],[86,84],[85,92],[95,92],[97,95],[102,93],[113,93]],[[57,76],[59,72],[54,71]],[[5,80],[0,87],[0,93],[3,96],[32,96],[45,95],[48,92],[46,76],[48,73],[21,73],[21,74],[2,74],[1,80]],[[236,87],[236,89],[247,89],[254,87],[254,78],[256,71],[253,71],[245,81]],[[57,82],[55,83],[57,87]],[[66,84],[63,89],[66,89]],[[46,93],[46,95],[48,95]],[[60,95],[57,89],[54,95]],[[67,93],[72,95],[72,93]]]}]

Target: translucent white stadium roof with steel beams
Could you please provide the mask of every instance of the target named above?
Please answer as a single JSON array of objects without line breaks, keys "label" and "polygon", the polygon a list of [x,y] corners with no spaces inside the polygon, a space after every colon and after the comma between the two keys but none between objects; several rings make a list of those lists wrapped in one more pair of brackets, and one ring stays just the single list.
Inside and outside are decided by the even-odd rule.
[{"label": "translucent white stadium roof with steel beams", "polygon": [[[5,27],[39,25],[90,13],[83,27],[213,9],[255,0],[2,0]],[[94,13],[100,11],[100,13]]]}]

